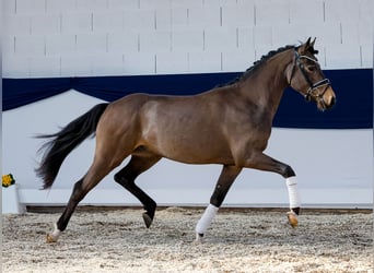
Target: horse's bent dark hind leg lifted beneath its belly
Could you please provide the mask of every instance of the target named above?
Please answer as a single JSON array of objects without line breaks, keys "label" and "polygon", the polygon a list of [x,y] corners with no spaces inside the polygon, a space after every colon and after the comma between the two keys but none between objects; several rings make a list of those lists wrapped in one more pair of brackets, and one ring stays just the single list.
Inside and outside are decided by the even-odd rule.
[{"label": "horse's bent dark hind leg lifted beneath its belly", "polygon": [[151,153],[132,155],[129,164],[115,175],[115,181],[130,191],[143,204],[145,210],[143,219],[147,227],[150,227],[152,224],[156,203],[135,183],[135,180],[141,173],[148,170],[160,159],[159,155]]}]

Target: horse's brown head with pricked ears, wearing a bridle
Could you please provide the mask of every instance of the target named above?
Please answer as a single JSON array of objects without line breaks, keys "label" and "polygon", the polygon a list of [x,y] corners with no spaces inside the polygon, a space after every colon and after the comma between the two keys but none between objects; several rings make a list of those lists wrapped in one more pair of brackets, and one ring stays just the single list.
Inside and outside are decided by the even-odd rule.
[{"label": "horse's brown head with pricked ears, wearing a bridle", "polygon": [[316,102],[318,109],[325,110],[332,107],[336,95],[315,57],[318,54],[314,49],[315,40],[311,43],[308,38],[295,48],[293,62],[287,69],[287,79],[289,85],[303,94],[306,100]]}]

